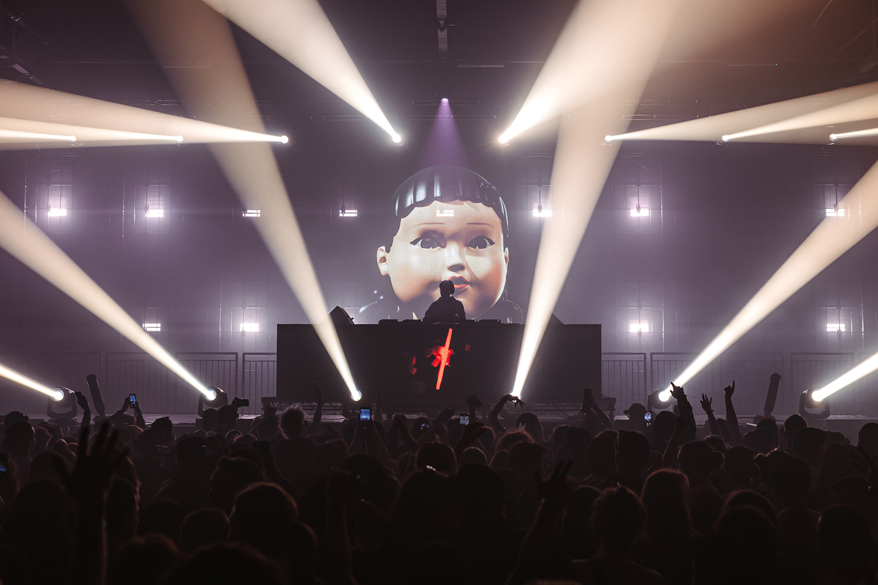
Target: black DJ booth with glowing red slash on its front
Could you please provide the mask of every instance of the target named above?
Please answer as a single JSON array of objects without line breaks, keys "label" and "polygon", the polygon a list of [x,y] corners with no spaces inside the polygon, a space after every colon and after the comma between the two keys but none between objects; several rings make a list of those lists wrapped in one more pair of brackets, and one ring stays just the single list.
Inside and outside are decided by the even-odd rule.
[{"label": "black DJ booth with glowing red slash on its front", "polygon": [[[461,408],[478,394],[493,403],[512,391],[524,325],[419,321],[338,325],[356,387],[385,408]],[[348,396],[312,325],[277,325],[277,399],[312,402],[314,382],[325,400]],[[582,389],[601,390],[601,325],[549,325],[524,384],[526,403],[578,403]]]}]

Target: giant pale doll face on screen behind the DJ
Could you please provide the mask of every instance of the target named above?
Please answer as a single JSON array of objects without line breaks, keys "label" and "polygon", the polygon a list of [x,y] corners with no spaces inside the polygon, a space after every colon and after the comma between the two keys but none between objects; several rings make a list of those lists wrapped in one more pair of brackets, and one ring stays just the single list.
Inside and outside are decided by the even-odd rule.
[{"label": "giant pale doll face on screen behind the DJ", "polygon": [[378,248],[378,270],[390,276],[400,301],[433,301],[439,282],[450,280],[470,318],[500,299],[508,263],[500,218],[471,201],[415,207],[399,222],[390,251]]}]

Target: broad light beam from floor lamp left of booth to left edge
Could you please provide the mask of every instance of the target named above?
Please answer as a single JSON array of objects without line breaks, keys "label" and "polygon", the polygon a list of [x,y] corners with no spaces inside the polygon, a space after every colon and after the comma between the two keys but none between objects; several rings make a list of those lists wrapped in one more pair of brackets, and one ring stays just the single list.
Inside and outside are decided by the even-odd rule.
[{"label": "broad light beam from floor lamp left of booth to left edge", "polygon": [[0,247],[90,310],[95,317],[130,339],[134,345],[149,353],[170,371],[189,382],[192,388],[209,399],[213,398],[212,390],[207,389],[148,332],[143,331],[143,328],[113,301],[104,289],[97,286],[97,283],[91,280],[82,268],[76,266],[76,262],[70,260],[70,257],[30,219],[24,218],[22,210],[2,193],[0,193]]}]

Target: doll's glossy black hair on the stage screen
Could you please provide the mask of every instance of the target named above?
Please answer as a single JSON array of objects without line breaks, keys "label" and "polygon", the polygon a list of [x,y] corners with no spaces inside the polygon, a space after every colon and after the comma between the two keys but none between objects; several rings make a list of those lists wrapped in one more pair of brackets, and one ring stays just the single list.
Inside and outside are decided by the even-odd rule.
[{"label": "doll's glossy black hair on the stage screen", "polygon": [[[497,188],[485,177],[474,173],[468,168],[442,165],[424,168],[408,177],[393,193],[391,206],[396,216],[396,228],[399,221],[407,217],[415,207],[427,207],[434,201],[450,203],[452,201],[471,201],[484,203],[500,218],[503,237],[509,237],[509,217],[506,203],[497,192]],[[396,231],[393,232],[394,234]],[[392,237],[391,237],[392,243]],[[390,245],[385,246],[390,251]]]}]

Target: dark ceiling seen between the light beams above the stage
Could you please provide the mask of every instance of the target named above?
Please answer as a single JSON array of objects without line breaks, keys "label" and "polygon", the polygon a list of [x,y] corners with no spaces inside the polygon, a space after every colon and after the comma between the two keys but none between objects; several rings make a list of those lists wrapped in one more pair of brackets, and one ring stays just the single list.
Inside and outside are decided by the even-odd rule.
[{"label": "dark ceiling seen between the light beams above the stage", "polygon": [[[722,14],[764,0],[687,0]],[[322,0],[388,118],[426,120],[441,97],[457,119],[505,124],[527,94],[574,0]],[[697,8],[694,8],[697,4]],[[657,125],[878,79],[878,2],[801,0],[795,14],[683,60],[673,42],[637,99],[634,120]],[[685,30],[683,31],[686,32]],[[361,115],[234,28],[263,116]],[[680,31],[674,34],[680,35]],[[682,35],[680,35],[682,36]],[[620,43],[625,39],[619,39]],[[612,50],[612,47],[608,47]],[[192,63],[192,67],[209,64]],[[118,0],[0,0],[0,76],[83,96],[184,114]]]}]

